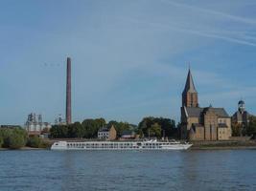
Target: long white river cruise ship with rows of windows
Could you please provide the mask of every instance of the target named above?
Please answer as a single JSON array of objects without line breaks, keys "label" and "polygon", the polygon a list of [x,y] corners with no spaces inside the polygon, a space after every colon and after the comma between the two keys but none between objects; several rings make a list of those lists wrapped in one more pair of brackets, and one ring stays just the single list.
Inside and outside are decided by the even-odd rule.
[{"label": "long white river cruise ship with rows of windows", "polygon": [[189,143],[178,141],[84,141],[84,142],[55,142],[52,150],[187,150]]}]

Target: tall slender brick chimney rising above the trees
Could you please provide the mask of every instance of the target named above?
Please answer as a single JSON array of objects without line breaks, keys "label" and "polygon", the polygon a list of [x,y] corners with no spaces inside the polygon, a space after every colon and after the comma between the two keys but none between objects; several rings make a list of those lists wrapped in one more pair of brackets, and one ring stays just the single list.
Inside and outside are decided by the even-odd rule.
[{"label": "tall slender brick chimney rising above the trees", "polygon": [[71,122],[71,58],[67,57],[66,124]]}]

